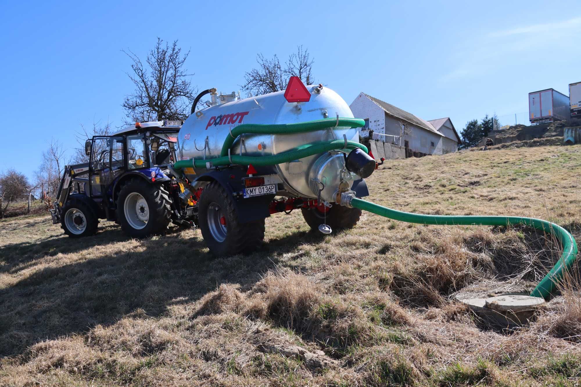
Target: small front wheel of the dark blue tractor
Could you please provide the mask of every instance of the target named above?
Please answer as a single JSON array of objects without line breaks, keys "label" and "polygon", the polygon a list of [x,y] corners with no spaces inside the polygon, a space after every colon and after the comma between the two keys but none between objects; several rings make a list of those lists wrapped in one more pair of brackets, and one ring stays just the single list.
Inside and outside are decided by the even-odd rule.
[{"label": "small front wheel of the dark blue tractor", "polygon": [[95,210],[82,199],[69,199],[60,210],[60,227],[71,238],[94,235],[98,224]]}]

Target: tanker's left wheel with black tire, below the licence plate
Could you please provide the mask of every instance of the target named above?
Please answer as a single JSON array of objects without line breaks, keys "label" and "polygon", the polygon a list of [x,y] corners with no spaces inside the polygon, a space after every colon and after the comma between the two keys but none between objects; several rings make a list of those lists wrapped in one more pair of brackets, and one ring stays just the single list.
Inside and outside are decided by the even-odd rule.
[{"label": "tanker's left wheel with black tire, below the licence plate", "polygon": [[204,241],[215,256],[250,253],[262,244],[264,219],[240,223],[232,197],[216,181],[202,191],[198,214]]}]

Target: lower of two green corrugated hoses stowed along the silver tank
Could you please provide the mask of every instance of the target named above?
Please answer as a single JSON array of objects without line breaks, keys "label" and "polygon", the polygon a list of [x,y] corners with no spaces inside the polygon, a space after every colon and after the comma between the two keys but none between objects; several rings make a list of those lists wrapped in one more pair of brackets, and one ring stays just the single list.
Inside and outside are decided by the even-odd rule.
[{"label": "lower of two green corrugated hoses stowed along the silver tank", "polygon": [[[216,157],[215,159],[206,160],[181,160],[174,164],[175,170],[180,170],[185,167],[196,167],[203,168],[206,167],[206,163],[210,162],[213,166],[223,166],[229,164],[237,165],[250,165],[255,167],[271,166],[276,164],[288,163],[294,160],[303,159],[304,157],[309,157],[317,155],[318,153],[327,152],[328,150],[334,149],[344,149],[345,140],[332,140],[324,142],[315,142],[314,144],[305,144],[297,146],[296,148],[287,150],[286,152],[278,153],[278,155],[272,156],[238,156],[231,155],[230,157],[222,156]],[[363,144],[359,144],[355,141],[347,141],[347,149],[361,148],[365,153],[367,152],[367,147]]]}]

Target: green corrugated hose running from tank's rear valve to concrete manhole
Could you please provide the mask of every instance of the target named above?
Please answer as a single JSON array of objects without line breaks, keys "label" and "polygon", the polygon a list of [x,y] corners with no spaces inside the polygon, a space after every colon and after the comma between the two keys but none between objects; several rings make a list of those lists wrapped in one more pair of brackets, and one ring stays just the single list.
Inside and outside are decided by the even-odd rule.
[{"label": "green corrugated hose running from tank's rear valve to concrete manhole", "polygon": [[539,285],[530,293],[534,297],[542,297],[546,300],[550,298],[551,293],[555,291],[558,282],[563,278],[563,275],[568,271],[577,256],[577,243],[573,236],[562,228],[560,225],[548,222],[546,220],[536,218],[525,218],[518,216],[461,216],[461,215],[425,215],[414,214],[410,212],[403,212],[389,209],[376,205],[375,203],[367,202],[367,200],[353,198],[351,206],[360,210],[365,210],[378,214],[393,220],[400,220],[407,223],[421,223],[421,224],[482,224],[482,225],[514,225],[524,224],[547,232],[555,236],[563,247],[563,254],[557,261],[557,264],[548,272],[548,274],[539,282]]}]

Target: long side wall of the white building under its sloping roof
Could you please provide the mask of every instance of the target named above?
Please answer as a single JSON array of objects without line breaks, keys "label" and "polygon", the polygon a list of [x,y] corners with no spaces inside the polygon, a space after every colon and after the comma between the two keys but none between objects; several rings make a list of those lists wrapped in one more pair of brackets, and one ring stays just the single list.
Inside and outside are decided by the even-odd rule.
[{"label": "long side wall of the white building under its sloping roof", "polygon": [[[404,135],[403,139],[401,139],[401,146],[407,140],[409,148],[415,152],[428,153],[429,155],[442,155],[444,153],[442,136],[389,116],[385,111],[384,114],[385,134],[400,135],[401,123],[407,124],[410,129],[411,133]],[[432,142],[434,146],[432,146]]]}]

